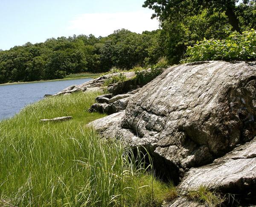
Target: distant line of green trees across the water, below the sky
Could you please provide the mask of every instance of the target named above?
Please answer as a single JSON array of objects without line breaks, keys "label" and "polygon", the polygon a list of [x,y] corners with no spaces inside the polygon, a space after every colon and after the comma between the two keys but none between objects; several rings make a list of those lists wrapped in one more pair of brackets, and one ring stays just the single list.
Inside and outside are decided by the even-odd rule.
[{"label": "distant line of green trees across the water, below the sky", "polygon": [[74,35],[26,43],[0,51],[0,83],[58,79],[81,72],[105,72],[113,66],[130,69],[157,62],[149,58],[158,31],[137,34],[125,29],[108,37]]}]

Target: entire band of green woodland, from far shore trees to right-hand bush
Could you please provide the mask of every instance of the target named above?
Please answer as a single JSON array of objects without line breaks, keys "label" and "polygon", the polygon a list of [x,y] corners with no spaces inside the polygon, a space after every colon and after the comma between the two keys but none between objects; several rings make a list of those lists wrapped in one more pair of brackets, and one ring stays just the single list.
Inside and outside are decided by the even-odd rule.
[{"label": "entire band of green woodland, from far shore trees to right-hand bush", "polygon": [[[158,30],[137,34],[120,29],[108,37],[81,34],[0,50],[0,83],[146,68],[163,57],[169,65],[256,59],[256,0],[146,0],[143,7],[154,10]],[[221,44],[212,47],[215,41]],[[225,54],[216,55],[218,51]]]}]

